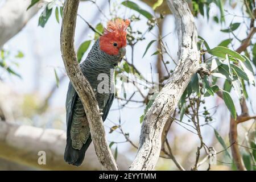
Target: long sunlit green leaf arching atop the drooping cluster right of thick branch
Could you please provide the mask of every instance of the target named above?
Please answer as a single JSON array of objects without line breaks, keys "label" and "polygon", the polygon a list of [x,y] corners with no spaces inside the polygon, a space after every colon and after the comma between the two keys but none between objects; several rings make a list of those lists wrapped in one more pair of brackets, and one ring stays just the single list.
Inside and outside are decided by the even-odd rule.
[{"label": "long sunlit green leaf arching atop the drooping cluster right of thick branch", "polygon": [[226,59],[226,55],[230,55],[230,56],[233,56],[234,58],[237,58],[238,60],[245,61],[245,58],[241,56],[240,53],[237,53],[236,51],[232,51],[229,48],[222,47],[222,46],[214,47],[213,49],[210,49],[208,53],[210,53],[213,56],[221,57],[224,59]]}]

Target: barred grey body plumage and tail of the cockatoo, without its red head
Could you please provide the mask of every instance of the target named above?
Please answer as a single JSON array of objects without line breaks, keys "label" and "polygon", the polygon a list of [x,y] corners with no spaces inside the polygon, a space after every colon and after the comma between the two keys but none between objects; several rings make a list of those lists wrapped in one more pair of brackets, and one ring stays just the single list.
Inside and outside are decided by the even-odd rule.
[{"label": "barred grey body plumage and tail of the cockatoo, without its red head", "polygon": [[[118,55],[108,55],[101,51],[99,40],[97,40],[86,57],[86,60],[80,64],[82,73],[88,79],[94,90],[98,106],[103,111],[103,121],[105,121],[114,99],[114,67],[120,60],[120,53]],[[98,76],[102,73],[108,76],[109,92],[107,93],[101,93],[99,92],[100,90],[98,90],[98,85],[102,82],[102,80],[98,79]],[[64,159],[69,164],[80,166],[84,160],[85,151],[92,142],[92,139],[90,138],[89,123],[85,115],[84,107],[70,82],[68,86],[66,110],[67,145]]]}]

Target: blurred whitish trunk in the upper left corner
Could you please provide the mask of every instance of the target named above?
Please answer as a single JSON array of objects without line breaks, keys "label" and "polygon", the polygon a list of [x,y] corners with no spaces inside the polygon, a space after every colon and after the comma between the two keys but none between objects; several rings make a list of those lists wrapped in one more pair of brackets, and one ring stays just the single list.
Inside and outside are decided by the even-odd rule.
[{"label": "blurred whitish trunk in the upper left corner", "polygon": [[0,48],[18,34],[40,9],[35,5],[27,11],[30,3],[31,0],[8,0],[0,8]]}]

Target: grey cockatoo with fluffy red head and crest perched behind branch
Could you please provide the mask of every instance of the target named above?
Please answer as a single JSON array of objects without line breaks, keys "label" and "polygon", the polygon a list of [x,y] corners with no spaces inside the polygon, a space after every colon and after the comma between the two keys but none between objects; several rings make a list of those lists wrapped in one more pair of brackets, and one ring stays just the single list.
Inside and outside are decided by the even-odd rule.
[{"label": "grey cockatoo with fluffy red head and crest perched behind branch", "polygon": [[[104,33],[94,42],[86,59],[79,64],[83,75],[93,88],[102,121],[107,118],[114,100],[114,68],[126,54],[126,30],[129,24],[129,19],[109,20]],[[107,77],[103,89],[99,86],[102,85],[102,76]],[[68,164],[80,166],[92,138],[84,107],[71,82],[68,85],[65,107],[67,143],[64,160]]]}]

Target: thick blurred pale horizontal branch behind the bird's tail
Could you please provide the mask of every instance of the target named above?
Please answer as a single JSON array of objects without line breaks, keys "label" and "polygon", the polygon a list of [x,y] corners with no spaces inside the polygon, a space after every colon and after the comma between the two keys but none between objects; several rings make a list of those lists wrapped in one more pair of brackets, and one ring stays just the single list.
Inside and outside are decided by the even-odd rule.
[{"label": "thick blurred pale horizontal branch behind the bird's tail", "polygon": [[[63,130],[42,129],[0,121],[0,158],[46,170],[101,170],[93,144],[88,148],[80,167],[65,163],[63,159],[66,133]],[[38,164],[38,152],[46,152],[46,165]],[[130,161],[118,155],[119,169],[127,170]],[[0,164],[1,166],[1,164]]]}]

